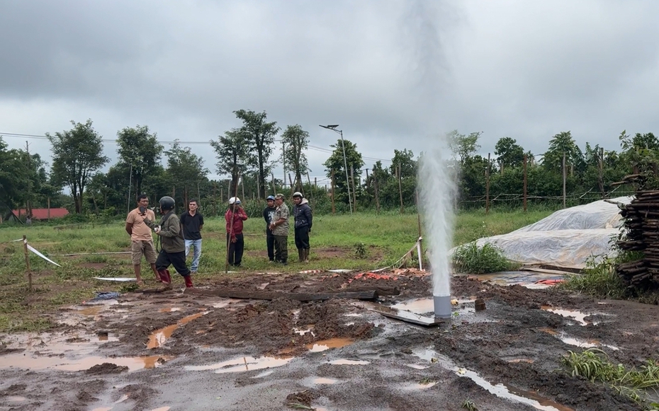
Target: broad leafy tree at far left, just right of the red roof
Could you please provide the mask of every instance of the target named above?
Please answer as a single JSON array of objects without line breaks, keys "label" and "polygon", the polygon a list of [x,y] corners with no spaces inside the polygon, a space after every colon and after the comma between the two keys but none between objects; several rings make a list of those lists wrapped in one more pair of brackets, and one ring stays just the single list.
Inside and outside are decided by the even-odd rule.
[{"label": "broad leafy tree at far left, just right of the red roof", "polygon": [[55,135],[46,133],[52,144],[52,180],[71,189],[76,213],[82,212],[84,187],[94,171],[103,167],[109,158],[103,156],[101,135],[86,123],[71,121],[73,128]]}]

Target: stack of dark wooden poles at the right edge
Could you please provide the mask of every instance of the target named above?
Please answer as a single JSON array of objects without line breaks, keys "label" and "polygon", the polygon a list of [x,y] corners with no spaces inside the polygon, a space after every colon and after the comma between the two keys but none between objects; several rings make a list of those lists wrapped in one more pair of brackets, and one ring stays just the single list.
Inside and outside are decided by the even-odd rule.
[{"label": "stack of dark wooden poles at the right edge", "polygon": [[641,251],[643,258],[616,267],[626,284],[655,288],[659,285],[659,190],[637,191],[630,204],[622,205],[626,238],[621,250]]}]

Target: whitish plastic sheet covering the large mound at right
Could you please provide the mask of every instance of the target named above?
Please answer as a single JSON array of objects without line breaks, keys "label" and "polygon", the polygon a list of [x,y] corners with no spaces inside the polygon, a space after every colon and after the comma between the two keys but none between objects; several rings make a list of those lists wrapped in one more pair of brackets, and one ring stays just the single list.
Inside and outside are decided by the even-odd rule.
[{"label": "whitish plastic sheet covering the large mound at right", "polygon": [[[629,204],[631,199],[609,201]],[[523,264],[583,268],[590,257],[601,260],[614,255],[611,242],[619,234],[619,211],[616,204],[600,200],[562,209],[511,233],[480,238],[477,243],[496,245],[509,260]]]}]

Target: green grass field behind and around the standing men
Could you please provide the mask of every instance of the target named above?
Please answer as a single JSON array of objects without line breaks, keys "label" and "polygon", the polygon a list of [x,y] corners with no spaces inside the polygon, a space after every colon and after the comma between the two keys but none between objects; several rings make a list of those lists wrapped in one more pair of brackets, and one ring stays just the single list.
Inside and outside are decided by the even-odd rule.
[{"label": "green grass field behind and around the standing men", "polygon": [[[539,212],[490,212],[483,210],[458,214],[454,245],[483,236],[507,233],[551,214]],[[417,214],[356,214],[316,216],[311,234],[309,264],[297,262],[293,233],[288,237],[289,265],[271,265],[265,245],[265,223],[261,218],[245,222],[245,253],[242,272],[299,272],[347,268],[373,270],[387,267],[407,253],[418,238]],[[30,253],[34,291],[28,292],[23,243],[9,242],[26,235],[28,243],[62,267]],[[123,221],[104,226],[77,226],[57,230],[53,226],[0,226],[0,332],[42,330],[50,326],[40,316],[59,306],[80,303],[94,291],[120,291],[122,285],[93,277],[133,277],[129,250],[130,237]],[[225,224],[223,219],[205,219],[203,247],[197,282],[212,282],[225,276]],[[142,265],[142,277],[153,274]],[[180,283],[180,284],[179,284]],[[154,286],[150,281],[147,286]],[[176,275],[174,284],[181,285]]]}]

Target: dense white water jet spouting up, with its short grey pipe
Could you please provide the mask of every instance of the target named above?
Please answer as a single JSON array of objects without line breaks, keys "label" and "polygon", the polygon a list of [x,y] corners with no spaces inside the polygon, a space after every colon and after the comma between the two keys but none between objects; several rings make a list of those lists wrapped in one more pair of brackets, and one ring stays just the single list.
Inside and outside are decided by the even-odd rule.
[{"label": "dense white water jet spouting up, with its short grey pipe", "polygon": [[432,296],[437,318],[451,317],[451,265],[449,250],[453,240],[454,176],[444,137],[424,151],[419,168],[420,206],[424,214],[425,236],[429,240],[432,270]]}]

